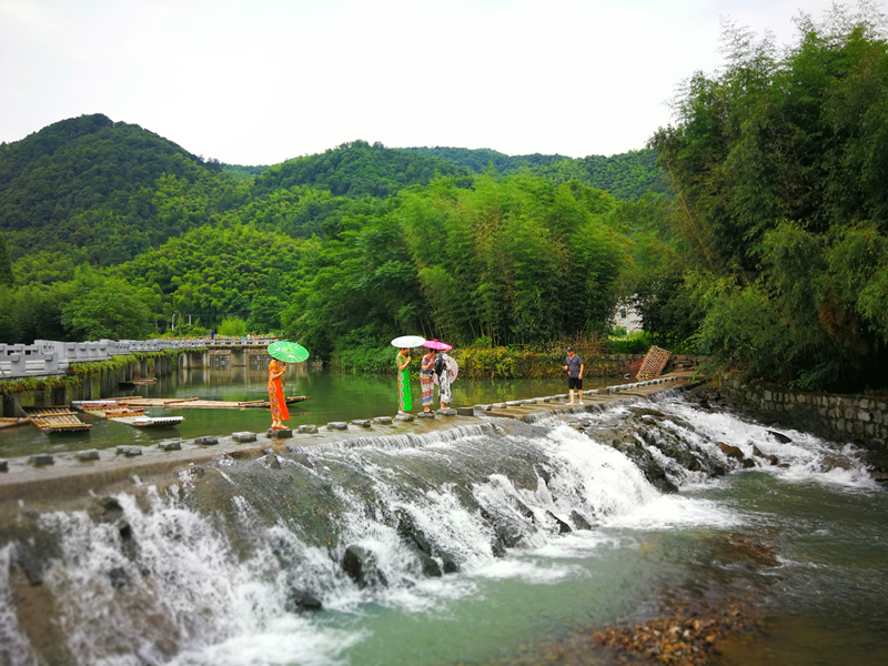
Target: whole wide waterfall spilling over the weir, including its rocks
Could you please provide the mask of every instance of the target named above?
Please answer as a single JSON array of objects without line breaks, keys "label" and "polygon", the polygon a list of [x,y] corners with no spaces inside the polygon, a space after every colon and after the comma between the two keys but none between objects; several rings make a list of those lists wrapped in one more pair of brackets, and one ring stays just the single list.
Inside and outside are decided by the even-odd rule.
[{"label": "whole wide waterfall spilling over the weir, including its rocks", "polygon": [[27,539],[0,549],[0,657],[52,663],[17,615],[17,567],[40,571],[63,640],[54,654],[72,664],[326,665],[366,636],[320,620],[316,605],[327,618],[423,613],[472,595],[480,577],[531,575],[522,553],[597,543],[602,528],[736,524],[730,508],[662,492],[743,470],[719,444],[788,480],[868,483],[852,447],[795,432],[780,443],[680,396],[572,418],[229,458],[167,488],[40,514],[32,533],[50,552],[28,551]]}]

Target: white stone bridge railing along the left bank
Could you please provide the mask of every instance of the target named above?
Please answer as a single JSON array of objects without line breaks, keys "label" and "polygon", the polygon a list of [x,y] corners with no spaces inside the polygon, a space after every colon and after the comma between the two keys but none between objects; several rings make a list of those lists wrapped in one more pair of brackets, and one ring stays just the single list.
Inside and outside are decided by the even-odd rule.
[{"label": "white stone bridge railing along the left bank", "polygon": [[134,352],[161,352],[202,347],[269,346],[276,337],[98,340],[58,342],[36,340],[33,344],[0,344],[0,380],[68,374],[72,363],[98,363]]}]

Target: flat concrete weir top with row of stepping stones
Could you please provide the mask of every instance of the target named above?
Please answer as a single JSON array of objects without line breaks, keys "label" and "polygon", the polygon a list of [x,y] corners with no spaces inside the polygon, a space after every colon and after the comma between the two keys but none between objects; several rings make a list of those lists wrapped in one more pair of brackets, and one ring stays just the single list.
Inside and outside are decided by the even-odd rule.
[{"label": "flat concrete weir top with row of stepping stones", "polygon": [[[268,433],[232,433],[229,436],[194,440],[163,440],[148,446],[125,446],[103,451],[56,453],[48,461],[34,456],[0,460],[0,521],[9,519],[22,503],[32,508],[58,508],[60,501],[89,501],[95,494],[133,491],[148,484],[167,486],[179,481],[179,474],[192,467],[212,470],[213,463],[225,460],[259,460],[269,451],[304,450],[340,441],[354,445],[362,437],[423,434],[480,421],[514,418],[538,421],[546,416],[576,414],[617,401],[646,398],[678,386],[687,386],[690,373],[675,373],[658,380],[584,391],[583,405],[571,405],[566,395],[541,396],[460,407],[436,413],[435,418],[405,420],[377,416],[333,422],[321,427],[302,425],[295,431]],[[696,384],[695,384],[696,385]],[[597,407],[599,408],[599,407]],[[345,426],[345,427],[342,427]],[[139,451],[135,451],[139,450]]]}]

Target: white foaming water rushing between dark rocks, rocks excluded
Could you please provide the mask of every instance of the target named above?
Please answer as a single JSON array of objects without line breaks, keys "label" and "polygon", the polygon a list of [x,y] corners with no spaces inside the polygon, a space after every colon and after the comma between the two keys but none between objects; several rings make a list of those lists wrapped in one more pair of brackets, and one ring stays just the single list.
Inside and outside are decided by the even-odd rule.
[{"label": "white foaming water rushing between dark rocks, rocks excluded", "polygon": [[[763,426],[694,408],[677,397],[655,406],[666,416],[663,428],[728,468],[737,464],[718,450],[719,442],[759,462],[754,446],[778,456],[788,467],[764,463],[756,470],[786,483],[871,487],[850,447],[837,452],[788,431],[793,443],[780,444]],[[630,408],[581,418],[617,426],[630,417]],[[646,448],[679,487],[725,483],[688,472],[655,446]],[[192,506],[190,497],[201,482],[188,477],[178,494],[152,490],[140,501],[119,495],[123,528],[85,512],[43,514],[40,528],[59,545],[43,585],[58,605],[74,663],[349,663],[350,650],[371,634],[362,618],[380,608],[404,617],[446,614],[488,594],[497,581],[533,587],[586,576],[583,561],[632,545],[633,532],[729,528],[743,522],[730,506],[662,494],[626,455],[556,418],[507,435],[488,423],[427,436],[349,442],[309,454],[313,470],[286,457],[283,468],[299,472],[306,483],[327,484],[331,502],[344,507],[332,519],[336,542],[326,546],[314,543],[306,526],[271,519],[246,498],[248,491],[255,492],[248,487],[260,465],[255,461],[230,463],[224,471],[235,490],[225,513],[234,516],[228,518],[233,524],[225,523],[224,512]],[[516,476],[506,463],[523,456],[531,462]],[[359,481],[337,483],[349,470]],[[392,516],[408,516],[434,546],[435,563],[444,566],[450,558],[458,573],[426,577],[415,547]],[[505,557],[497,557],[502,535],[490,516],[515,536]],[[584,522],[592,528],[583,529]],[[372,553],[385,585],[363,587],[344,573],[343,553],[350,545]],[[0,657],[23,666],[38,659],[12,608],[13,548],[0,549]],[[294,589],[320,597],[325,612],[297,613],[290,598]]]}]

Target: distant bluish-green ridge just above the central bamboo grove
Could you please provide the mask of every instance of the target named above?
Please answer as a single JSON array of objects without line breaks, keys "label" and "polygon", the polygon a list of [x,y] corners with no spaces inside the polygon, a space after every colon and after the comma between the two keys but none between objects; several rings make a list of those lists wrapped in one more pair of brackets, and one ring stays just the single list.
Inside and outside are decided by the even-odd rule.
[{"label": "distant bluish-green ridge just above the central bamboo grove", "polygon": [[647,192],[670,194],[669,180],[653,150],[636,150],[605,158],[564,155],[507,155],[487,148],[405,148],[418,155],[438,158],[475,173],[493,168],[501,175],[526,171],[555,182],[579,182],[609,192],[617,199],[637,199]]}]

